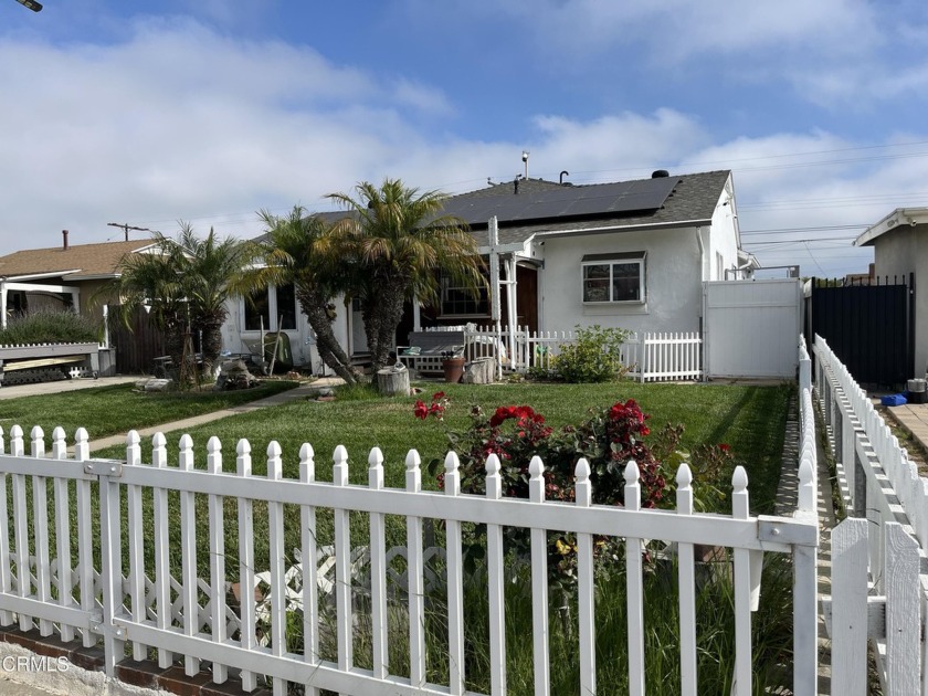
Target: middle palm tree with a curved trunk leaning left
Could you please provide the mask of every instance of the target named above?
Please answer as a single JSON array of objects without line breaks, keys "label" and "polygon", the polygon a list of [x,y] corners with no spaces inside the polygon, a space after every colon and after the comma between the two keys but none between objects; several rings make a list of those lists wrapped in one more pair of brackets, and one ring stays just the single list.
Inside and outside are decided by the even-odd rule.
[{"label": "middle palm tree with a curved trunk leaning left", "polygon": [[260,213],[267,236],[262,243],[264,266],[249,274],[252,288],[289,284],[299,308],[316,334],[319,357],[347,383],[358,380],[358,372],[335,337],[333,330],[333,298],[344,286],[345,274],[339,271],[341,260],[333,254],[329,226],[318,217],[307,215],[294,205],[288,215],[278,218],[267,211]]}]

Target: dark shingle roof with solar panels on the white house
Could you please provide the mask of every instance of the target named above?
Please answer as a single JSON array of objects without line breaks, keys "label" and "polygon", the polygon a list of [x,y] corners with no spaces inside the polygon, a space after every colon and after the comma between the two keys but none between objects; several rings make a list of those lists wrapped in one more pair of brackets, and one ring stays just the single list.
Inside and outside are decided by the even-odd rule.
[{"label": "dark shingle roof with solar panels on the white house", "polygon": [[[500,244],[524,243],[539,233],[707,224],[730,177],[730,170],[719,170],[590,184],[523,179],[518,193],[509,181],[451,196],[443,212],[467,222],[481,244],[493,215]],[[316,214],[336,222],[350,213]]]}]

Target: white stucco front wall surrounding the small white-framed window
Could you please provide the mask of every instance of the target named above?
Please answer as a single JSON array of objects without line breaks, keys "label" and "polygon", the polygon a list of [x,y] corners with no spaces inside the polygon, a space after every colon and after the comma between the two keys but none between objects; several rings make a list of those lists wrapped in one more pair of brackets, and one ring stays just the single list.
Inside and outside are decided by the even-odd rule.
[{"label": "white stucco front wall surrounding the small white-framed window", "polygon": [[[541,330],[576,325],[633,331],[695,331],[702,314],[702,262],[697,228],[539,238],[545,268],[539,274]],[[584,254],[645,252],[645,302],[582,302]]]}]

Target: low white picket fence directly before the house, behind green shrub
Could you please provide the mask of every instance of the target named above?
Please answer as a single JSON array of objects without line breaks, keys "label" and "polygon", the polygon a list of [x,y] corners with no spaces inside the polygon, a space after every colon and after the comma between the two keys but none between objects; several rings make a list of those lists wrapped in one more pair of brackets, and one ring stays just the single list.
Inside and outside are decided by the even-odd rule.
[{"label": "low white picket fence directly before the house, behind green shrub", "polygon": [[[455,327],[460,328],[460,327]],[[577,339],[573,331],[529,331],[516,327],[465,327],[468,357],[498,357],[515,371],[548,369],[561,347]],[[502,350],[500,350],[502,347]],[[697,331],[632,333],[622,347],[629,377],[642,382],[697,380],[703,377],[703,337]]]}]

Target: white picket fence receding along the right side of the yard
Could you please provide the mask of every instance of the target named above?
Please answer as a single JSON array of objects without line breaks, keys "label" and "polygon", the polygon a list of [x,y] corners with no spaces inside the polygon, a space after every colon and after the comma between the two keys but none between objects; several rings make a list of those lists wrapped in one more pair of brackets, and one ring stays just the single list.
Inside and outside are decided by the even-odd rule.
[{"label": "white picket fence receding along the right side of the yard", "polygon": [[848,517],[832,534],[832,693],[866,689],[868,643],[885,694],[928,695],[928,479],[827,342],[815,383]]}]

